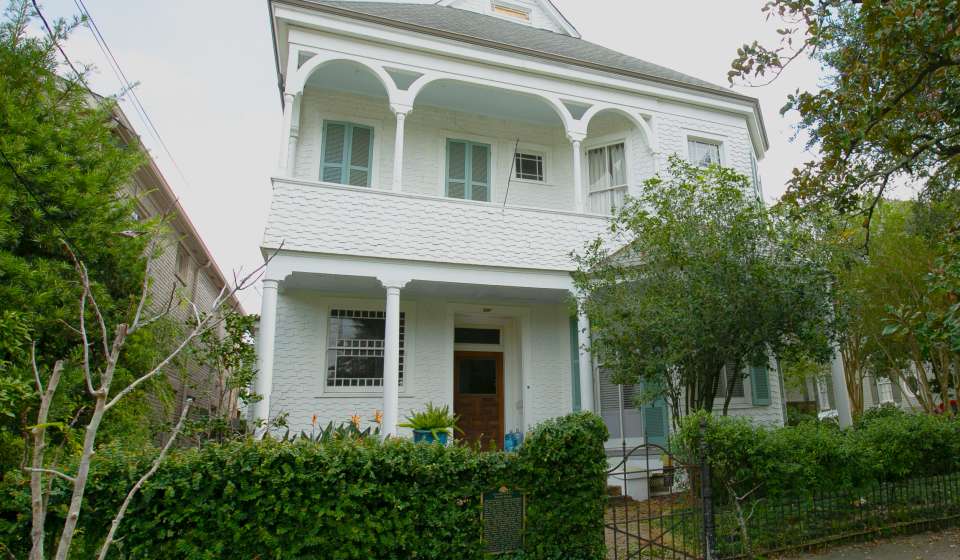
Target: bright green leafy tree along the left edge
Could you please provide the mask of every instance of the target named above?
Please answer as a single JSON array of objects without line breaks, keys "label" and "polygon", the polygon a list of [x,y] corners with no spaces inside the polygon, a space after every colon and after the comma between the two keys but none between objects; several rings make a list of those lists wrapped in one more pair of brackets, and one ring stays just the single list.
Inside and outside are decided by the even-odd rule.
[{"label": "bright green leafy tree along the left edge", "polygon": [[[9,397],[0,397],[9,413],[0,415],[0,467],[4,459],[16,459],[4,451],[4,442],[13,445],[13,435],[19,438],[38,400],[32,394],[31,342],[37,361],[47,367],[77,356],[80,347],[75,327],[81,288],[67,247],[88,267],[111,323],[127,312],[143,279],[144,241],[121,233],[143,227],[133,219],[133,201],[123,187],[144,156],[114,133],[113,101],[91,94],[71,70],[58,73],[54,40],[26,31],[35,16],[28,0],[15,1],[0,23],[0,334],[13,333],[0,343],[0,393]],[[57,42],[68,31],[62,22],[53,26]],[[143,341],[152,335],[141,336]],[[152,359],[150,345],[133,346],[124,369]],[[99,363],[102,350],[92,351]],[[76,368],[64,372],[63,385],[68,390],[61,392],[51,421],[83,413],[76,405],[83,395]],[[144,424],[131,414],[131,423],[137,422]]]}]

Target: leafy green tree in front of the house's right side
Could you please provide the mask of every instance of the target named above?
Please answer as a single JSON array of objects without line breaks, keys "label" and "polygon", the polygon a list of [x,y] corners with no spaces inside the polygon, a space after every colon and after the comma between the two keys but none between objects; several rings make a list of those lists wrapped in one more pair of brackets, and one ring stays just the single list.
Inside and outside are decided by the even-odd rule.
[{"label": "leafy green tree in front of the house's right side", "polygon": [[[593,349],[617,383],[648,381],[675,413],[713,410],[721,370],[824,356],[830,298],[817,228],[766,209],[746,177],[673,157],[580,255]],[[728,378],[724,413],[735,375]]]}]

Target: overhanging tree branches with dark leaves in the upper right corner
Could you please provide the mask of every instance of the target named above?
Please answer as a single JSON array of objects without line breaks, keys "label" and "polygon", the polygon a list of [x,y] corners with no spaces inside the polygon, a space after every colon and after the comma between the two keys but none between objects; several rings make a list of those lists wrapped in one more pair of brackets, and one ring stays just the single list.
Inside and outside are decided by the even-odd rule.
[{"label": "overhanging tree branches with dark leaves in the upper right corner", "polygon": [[960,180],[960,2],[771,0],[782,42],[746,44],[729,77],[775,79],[810,56],[822,89],[789,96],[819,157],[794,171],[787,199],[869,219],[891,185],[926,194]]}]

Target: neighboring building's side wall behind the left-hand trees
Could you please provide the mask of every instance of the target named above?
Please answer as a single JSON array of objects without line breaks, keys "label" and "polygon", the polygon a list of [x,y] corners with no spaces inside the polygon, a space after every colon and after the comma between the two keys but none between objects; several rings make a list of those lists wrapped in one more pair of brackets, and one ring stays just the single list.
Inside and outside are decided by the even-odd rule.
[{"label": "neighboring building's side wall behind the left-hand trees", "polygon": [[[140,139],[119,107],[115,115],[117,134],[124,142],[139,144]],[[170,306],[170,316],[186,323],[193,316],[193,310],[187,302],[192,301],[201,312],[209,310],[226,285],[226,277],[152,158],[148,157],[147,162],[136,171],[127,190],[137,200],[138,220],[167,217],[168,233],[150,269],[151,305],[155,312]],[[235,297],[227,302],[226,307],[244,312]],[[199,363],[189,352],[183,353],[168,367],[166,374],[173,390],[173,402],[167,404],[172,406],[161,406],[158,398],[153,400],[158,408],[168,408],[169,418],[180,415],[187,398],[194,399],[192,410],[197,414],[214,412],[222,406],[226,409],[225,417],[237,417],[235,392],[226,391],[216,371]],[[226,395],[226,398],[221,399],[222,395]]]}]

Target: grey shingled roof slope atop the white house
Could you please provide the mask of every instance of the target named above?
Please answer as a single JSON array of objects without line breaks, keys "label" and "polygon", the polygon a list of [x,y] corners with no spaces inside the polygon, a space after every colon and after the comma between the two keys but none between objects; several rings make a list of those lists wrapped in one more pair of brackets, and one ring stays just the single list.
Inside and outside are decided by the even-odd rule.
[{"label": "grey shingled roof slope atop the white house", "polygon": [[697,89],[709,90],[713,93],[737,97],[741,100],[753,100],[753,98],[735,93],[729,88],[628,56],[583,39],[467,10],[438,4],[356,0],[304,0],[301,3],[312,5],[323,11],[366,19],[374,23],[403,27],[412,31],[433,32],[433,34],[442,34],[465,42],[495,44],[495,46],[505,48],[505,50],[512,50],[521,54],[559,59],[559,62],[568,64],[628,74],[674,85],[693,86]]}]

